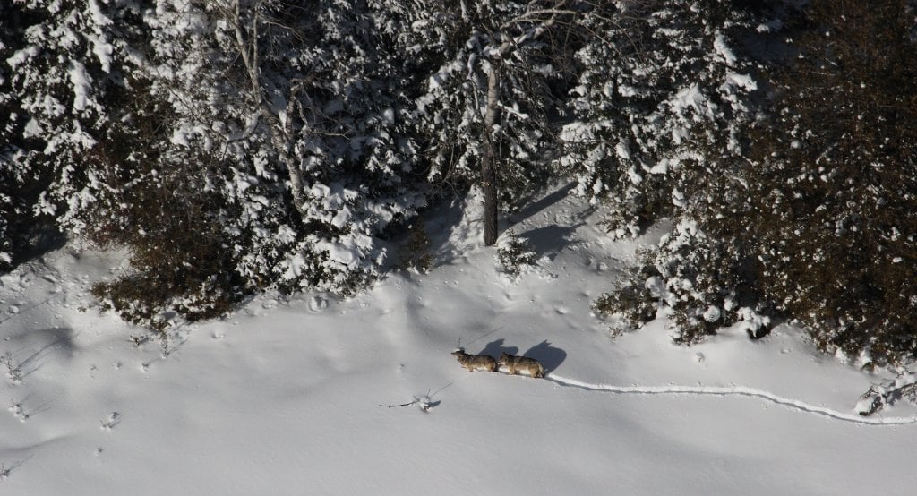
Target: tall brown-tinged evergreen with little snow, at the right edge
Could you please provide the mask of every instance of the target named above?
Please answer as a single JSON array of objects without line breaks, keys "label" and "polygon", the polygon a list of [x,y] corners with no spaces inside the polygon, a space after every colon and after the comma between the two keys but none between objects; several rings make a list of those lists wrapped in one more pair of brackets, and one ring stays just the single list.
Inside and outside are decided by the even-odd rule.
[{"label": "tall brown-tinged evergreen with little snow, at the right edge", "polygon": [[914,4],[812,0],[785,23],[775,113],[749,158],[760,285],[815,343],[872,367],[917,353]]}]

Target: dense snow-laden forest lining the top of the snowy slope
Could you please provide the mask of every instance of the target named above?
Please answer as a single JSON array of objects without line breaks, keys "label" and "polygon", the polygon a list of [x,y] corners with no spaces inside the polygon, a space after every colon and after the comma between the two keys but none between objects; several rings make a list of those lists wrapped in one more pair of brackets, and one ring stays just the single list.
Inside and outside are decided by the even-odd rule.
[{"label": "dense snow-laden forest lining the top of the snowy slope", "polygon": [[[595,302],[690,344],[795,322],[917,355],[911,0],[2,0],[0,271],[127,248],[104,308],[162,328],[350,295],[444,198],[558,178],[609,237],[672,231]],[[421,234],[416,236],[421,236]],[[415,237],[416,237],[415,236]],[[413,238],[413,237],[412,237]]]}]

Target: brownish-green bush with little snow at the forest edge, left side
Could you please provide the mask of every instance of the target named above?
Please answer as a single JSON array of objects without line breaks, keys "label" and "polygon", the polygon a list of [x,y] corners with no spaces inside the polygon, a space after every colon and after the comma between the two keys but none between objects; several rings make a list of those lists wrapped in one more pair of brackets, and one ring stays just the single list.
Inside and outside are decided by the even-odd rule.
[{"label": "brownish-green bush with little snow at the forest edge, left side", "polygon": [[245,295],[245,281],[231,270],[234,253],[226,249],[232,239],[223,231],[219,211],[212,210],[223,199],[206,192],[203,178],[189,171],[162,170],[155,186],[125,188],[122,197],[129,206],[117,218],[129,226],[101,230],[92,225],[96,242],[131,248],[127,274],[93,288],[102,308],[160,332],[169,325],[161,314],[212,318]]}]

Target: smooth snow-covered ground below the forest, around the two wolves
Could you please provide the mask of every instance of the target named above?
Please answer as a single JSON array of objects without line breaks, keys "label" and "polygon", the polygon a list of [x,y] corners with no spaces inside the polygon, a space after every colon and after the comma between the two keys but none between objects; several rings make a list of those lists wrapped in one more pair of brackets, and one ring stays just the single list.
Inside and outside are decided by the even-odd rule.
[{"label": "smooth snow-covered ground below the forest, around the two wolves", "polygon": [[[21,266],[0,280],[0,493],[913,491],[917,409],[859,417],[882,376],[798,331],[689,348],[657,321],[612,340],[590,304],[661,228],[602,240],[601,215],[565,191],[504,226],[541,259],[518,278],[497,272],[474,214],[446,208],[426,221],[429,273],[344,302],[261,296],[183,326],[168,354],[86,309],[116,254]],[[469,373],[450,355],[459,339],[538,358],[547,379]]]}]

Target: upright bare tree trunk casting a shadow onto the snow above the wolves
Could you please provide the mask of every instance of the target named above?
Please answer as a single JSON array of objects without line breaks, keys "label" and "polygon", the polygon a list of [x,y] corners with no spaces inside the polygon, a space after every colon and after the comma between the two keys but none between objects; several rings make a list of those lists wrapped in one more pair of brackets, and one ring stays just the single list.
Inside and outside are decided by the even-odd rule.
[{"label": "upright bare tree trunk casting a shadow onto the snow above the wolves", "polygon": [[484,114],[484,130],[481,137],[481,188],[484,190],[484,245],[497,242],[497,170],[493,143],[493,125],[497,121],[497,105],[500,99],[499,61],[491,61],[487,72],[487,111]]}]

